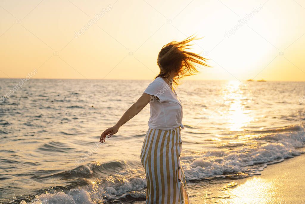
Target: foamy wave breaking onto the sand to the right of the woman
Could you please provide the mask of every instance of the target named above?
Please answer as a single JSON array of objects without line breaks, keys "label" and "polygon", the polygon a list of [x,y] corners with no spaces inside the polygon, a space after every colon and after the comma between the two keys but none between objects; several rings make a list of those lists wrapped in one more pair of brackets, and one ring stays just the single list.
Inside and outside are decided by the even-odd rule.
[{"label": "foamy wave breaking onto the sand to the right of the woman", "polygon": [[[285,130],[285,131],[284,131]],[[293,131],[292,131],[293,130]],[[186,180],[215,177],[243,178],[259,174],[268,164],[300,155],[305,144],[305,129],[294,125],[269,129],[243,145],[221,146],[198,156],[181,156]],[[232,148],[234,147],[234,148]]]}]

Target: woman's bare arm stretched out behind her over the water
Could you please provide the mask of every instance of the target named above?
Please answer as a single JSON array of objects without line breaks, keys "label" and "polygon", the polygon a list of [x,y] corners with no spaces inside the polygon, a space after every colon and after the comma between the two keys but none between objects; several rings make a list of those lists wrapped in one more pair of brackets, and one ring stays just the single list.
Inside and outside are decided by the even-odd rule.
[{"label": "woman's bare arm stretched out behind her over the water", "polygon": [[130,108],[126,110],[126,112],[117,122],[117,124],[102,132],[99,142],[103,143],[105,142],[105,138],[107,135],[109,134],[113,135],[117,133],[122,125],[124,125],[127,121],[129,121],[131,118],[133,118],[135,115],[141,112],[141,110],[149,103],[149,100],[151,98],[152,98],[151,95],[143,93],[142,96],[137,100],[137,102],[132,104],[132,106],[130,106]]}]

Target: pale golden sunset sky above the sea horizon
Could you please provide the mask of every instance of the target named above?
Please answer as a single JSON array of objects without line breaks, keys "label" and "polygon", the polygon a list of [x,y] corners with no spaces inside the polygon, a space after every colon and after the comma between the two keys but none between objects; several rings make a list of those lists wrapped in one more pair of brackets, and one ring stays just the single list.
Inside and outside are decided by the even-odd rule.
[{"label": "pale golden sunset sky above the sea horizon", "polygon": [[196,34],[190,80],[305,81],[305,0],[0,1],[0,78],[152,80]]}]

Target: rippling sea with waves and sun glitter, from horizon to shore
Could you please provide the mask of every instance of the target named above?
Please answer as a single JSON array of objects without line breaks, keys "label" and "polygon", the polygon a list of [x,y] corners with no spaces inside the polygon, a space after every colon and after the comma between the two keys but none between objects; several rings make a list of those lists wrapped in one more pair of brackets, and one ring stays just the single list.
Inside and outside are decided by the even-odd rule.
[{"label": "rippling sea with waves and sun glitter, from horizon to shore", "polygon": [[[0,79],[0,203],[145,201],[149,105],[98,141],[150,81],[19,82]],[[304,153],[305,82],[182,81],[176,91],[191,203],[226,202],[218,186]]]}]

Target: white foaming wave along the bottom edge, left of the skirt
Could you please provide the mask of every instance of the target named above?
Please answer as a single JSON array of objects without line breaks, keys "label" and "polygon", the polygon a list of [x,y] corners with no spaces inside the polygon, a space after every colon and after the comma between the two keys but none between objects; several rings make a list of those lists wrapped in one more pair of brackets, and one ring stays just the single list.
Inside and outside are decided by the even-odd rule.
[{"label": "white foaming wave along the bottom edge, left of the skirt", "polygon": [[[119,186],[113,184],[117,182]],[[74,188],[68,191],[55,191],[54,193],[41,194],[31,202],[21,201],[20,204],[95,204],[95,203],[132,203],[135,201],[145,201],[146,183],[142,178],[132,178],[130,180],[117,180],[105,182],[103,185],[99,181],[92,181],[83,189]]]}]

